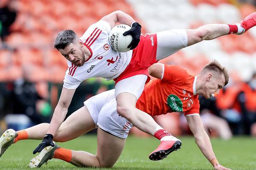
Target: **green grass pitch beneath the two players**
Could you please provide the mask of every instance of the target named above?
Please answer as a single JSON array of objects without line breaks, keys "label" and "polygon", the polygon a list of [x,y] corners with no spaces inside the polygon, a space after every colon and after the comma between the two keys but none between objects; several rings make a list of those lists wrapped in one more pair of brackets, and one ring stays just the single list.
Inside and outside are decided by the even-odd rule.
[{"label": "green grass pitch beneath the two players", "polygon": [[[161,161],[151,161],[148,154],[159,142],[154,138],[140,139],[129,136],[125,149],[112,168],[114,170],[212,170],[211,164],[200,152],[192,137],[180,137],[182,147]],[[212,139],[212,146],[218,161],[233,170],[256,170],[256,139],[236,137],[229,141]],[[24,140],[13,144],[0,158],[0,170],[30,169],[28,163],[32,159],[32,150],[40,141]],[[85,150],[96,153],[96,136],[82,136],[70,142],[59,143],[61,147],[73,150]],[[48,161],[40,170],[79,170],[72,164],[58,159]],[[86,168],[99,169],[99,168]]]}]

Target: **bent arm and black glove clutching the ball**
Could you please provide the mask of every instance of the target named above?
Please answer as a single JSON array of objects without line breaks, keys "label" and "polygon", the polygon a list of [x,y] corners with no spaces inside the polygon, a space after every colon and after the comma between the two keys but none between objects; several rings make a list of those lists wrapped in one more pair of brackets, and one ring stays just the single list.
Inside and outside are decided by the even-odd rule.
[{"label": "bent arm and black glove clutching the ball", "polygon": [[140,42],[140,33],[141,33],[141,26],[137,23],[130,15],[124,13],[123,11],[114,11],[111,14],[106,15],[101,20],[107,22],[111,29],[116,25],[116,23],[126,24],[131,26],[131,29],[124,32],[124,36],[131,35],[132,41],[128,45],[128,48],[131,50],[136,48]]}]

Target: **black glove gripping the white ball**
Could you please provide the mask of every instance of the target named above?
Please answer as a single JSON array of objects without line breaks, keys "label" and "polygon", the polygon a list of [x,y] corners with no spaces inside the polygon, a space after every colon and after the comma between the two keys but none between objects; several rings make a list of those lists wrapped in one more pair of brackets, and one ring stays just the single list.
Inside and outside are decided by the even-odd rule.
[{"label": "black glove gripping the white ball", "polygon": [[124,32],[124,34],[123,34],[124,36],[126,36],[126,35],[132,36],[132,41],[128,45],[128,48],[130,48],[131,50],[136,48],[137,45],[139,44],[140,33],[141,33],[141,25],[139,23],[133,23],[131,29]]}]

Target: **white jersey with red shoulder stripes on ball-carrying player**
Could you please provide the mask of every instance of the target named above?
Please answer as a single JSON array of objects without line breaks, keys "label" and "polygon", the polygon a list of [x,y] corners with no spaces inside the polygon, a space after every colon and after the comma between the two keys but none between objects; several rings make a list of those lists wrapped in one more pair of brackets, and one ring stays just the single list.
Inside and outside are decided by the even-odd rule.
[{"label": "white jersey with red shoulder stripes on ball-carrying player", "polygon": [[133,51],[122,53],[113,50],[108,41],[110,31],[110,25],[102,20],[85,31],[80,40],[90,50],[91,55],[81,67],[67,61],[69,68],[65,74],[64,88],[75,89],[90,77],[115,79],[125,70],[131,61]]}]

